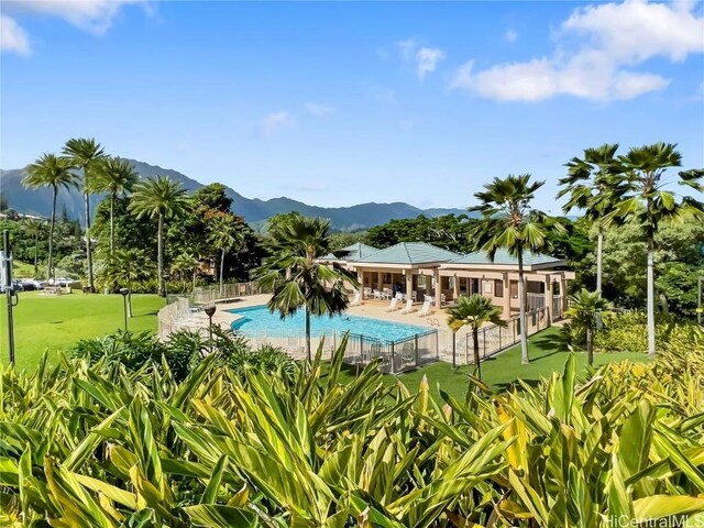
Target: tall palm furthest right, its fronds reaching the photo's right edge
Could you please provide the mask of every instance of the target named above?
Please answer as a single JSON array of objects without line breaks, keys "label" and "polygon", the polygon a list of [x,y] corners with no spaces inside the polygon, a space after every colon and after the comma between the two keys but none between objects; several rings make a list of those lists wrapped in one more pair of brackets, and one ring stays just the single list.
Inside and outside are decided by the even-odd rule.
[{"label": "tall palm furthest right, its fronds reaching the photo's right edge", "polygon": [[[619,156],[622,170],[610,176],[610,185],[626,187],[624,199],[614,215],[632,220],[645,232],[647,264],[647,312],[648,312],[648,355],[656,354],[656,314],[654,314],[654,238],[661,223],[681,222],[689,217],[704,217],[704,206],[691,197],[678,202],[673,193],[664,190],[663,179],[667,168],[682,165],[682,155],[672,143],[654,143],[632,147],[626,155]],[[704,169],[679,173],[679,184],[704,191],[702,179]]]}]

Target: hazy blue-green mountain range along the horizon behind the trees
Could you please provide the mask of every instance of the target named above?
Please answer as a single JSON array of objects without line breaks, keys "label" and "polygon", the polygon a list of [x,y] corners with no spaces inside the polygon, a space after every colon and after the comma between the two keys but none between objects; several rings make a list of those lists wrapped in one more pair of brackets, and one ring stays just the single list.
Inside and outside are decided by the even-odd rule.
[{"label": "hazy blue-green mountain range along the horizon behind the trees", "polygon": [[[150,165],[135,160],[128,160],[141,177],[162,175],[180,182],[186,190],[194,190],[204,187],[204,184],[189,178],[177,170],[162,168],[157,165]],[[0,191],[8,199],[9,207],[25,215],[40,215],[48,217],[52,211],[52,193],[47,188],[26,189],[22,186],[23,169],[11,170],[0,169]],[[392,204],[359,204],[349,207],[318,207],[304,204],[290,198],[280,197],[268,200],[258,198],[245,198],[230,187],[226,187],[228,197],[232,199],[232,210],[245,218],[255,229],[261,229],[266,220],[274,215],[282,212],[298,211],[309,217],[320,217],[330,220],[333,229],[339,231],[354,231],[380,226],[393,219],[416,218],[419,215],[427,217],[439,217],[442,215],[461,215],[465,211],[461,209],[419,209],[403,201]],[[95,196],[92,210],[103,196]],[[62,189],[58,194],[57,215],[65,210],[69,218],[77,218],[84,223],[84,201],[82,195],[77,189]]]}]

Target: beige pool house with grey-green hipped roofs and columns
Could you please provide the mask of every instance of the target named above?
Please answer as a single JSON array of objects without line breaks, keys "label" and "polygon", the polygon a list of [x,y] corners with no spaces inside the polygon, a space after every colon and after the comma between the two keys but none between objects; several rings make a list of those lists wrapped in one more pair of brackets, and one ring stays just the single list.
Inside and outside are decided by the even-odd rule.
[{"label": "beige pool house with grey-green hipped roofs and columns", "polygon": [[[518,312],[518,260],[507,251],[497,251],[493,262],[484,252],[462,255],[425,242],[402,242],[385,250],[354,244],[343,251],[346,256],[331,254],[324,260],[356,273],[363,299],[369,297],[365,292],[400,292],[417,301],[428,296],[440,307],[460,295],[482,294],[502,308],[504,317]],[[526,253],[524,273],[527,309],[548,307],[551,319],[560,318],[566,308],[568,280],[574,278],[566,262]]]}]

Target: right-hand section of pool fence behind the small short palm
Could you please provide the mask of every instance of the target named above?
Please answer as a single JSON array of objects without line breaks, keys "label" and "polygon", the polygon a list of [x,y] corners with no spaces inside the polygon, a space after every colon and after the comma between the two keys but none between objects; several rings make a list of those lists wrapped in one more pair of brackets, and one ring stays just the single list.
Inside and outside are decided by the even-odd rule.
[{"label": "right-hand section of pool fence behind the small short palm", "polygon": [[[526,314],[527,336],[538,333],[548,328],[546,308]],[[479,331],[480,360],[490,358],[520,342],[520,317],[508,319],[506,327],[495,324],[483,327]],[[460,365],[474,363],[474,340],[472,332],[457,336],[449,330],[438,331],[438,355],[440,361],[454,361]]]}]

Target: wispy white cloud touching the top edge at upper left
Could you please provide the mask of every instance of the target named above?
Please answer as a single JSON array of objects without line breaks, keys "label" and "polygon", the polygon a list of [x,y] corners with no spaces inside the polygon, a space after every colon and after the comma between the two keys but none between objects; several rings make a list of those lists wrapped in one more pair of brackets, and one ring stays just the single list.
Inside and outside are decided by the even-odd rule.
[{"label": "wispy white cloud touching the top edge at upper left", "polygon": [[18,14],[56,16],[95,35],[105,34],[127,4],[142,4],[145,0],[22,0],[8,2]]}]

